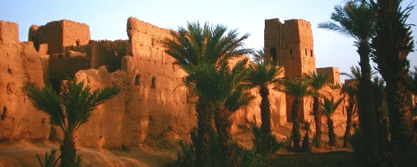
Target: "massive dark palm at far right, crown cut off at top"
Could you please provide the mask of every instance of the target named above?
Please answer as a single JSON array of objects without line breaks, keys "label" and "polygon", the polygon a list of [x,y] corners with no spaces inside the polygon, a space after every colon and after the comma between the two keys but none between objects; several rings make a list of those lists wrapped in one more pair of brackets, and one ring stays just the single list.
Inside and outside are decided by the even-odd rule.
[{"label": "massive dark palm at far right, crown cut off at top", "polygon": [[373,61],[386,82],[391,144],[394,155],[411,146],[411,109],[407,103],[405,81],[409,71],[407,55],[414,49],[411,24],[407,24],[414,6],[401,8],[401,0],[370,1],[375,12],[376,34],[372,39]]}]

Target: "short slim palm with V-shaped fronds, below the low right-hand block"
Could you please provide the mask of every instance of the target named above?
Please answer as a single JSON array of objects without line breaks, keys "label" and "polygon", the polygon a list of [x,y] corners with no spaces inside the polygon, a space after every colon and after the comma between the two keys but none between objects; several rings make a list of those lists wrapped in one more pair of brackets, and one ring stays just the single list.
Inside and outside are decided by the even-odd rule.
[{"label": "short slim palm with V-shaped fronds, below the low right-hand block", "polygon": [[336,143],[336,134],[334,134],[334,125],[332,115],[336,111],[337,107],[343,102],[343,98],[334,100],[334,98],[324,98],[322,105],[322,114],[327,118],[327,128],[329,128],[329,146],[334,146]]}]

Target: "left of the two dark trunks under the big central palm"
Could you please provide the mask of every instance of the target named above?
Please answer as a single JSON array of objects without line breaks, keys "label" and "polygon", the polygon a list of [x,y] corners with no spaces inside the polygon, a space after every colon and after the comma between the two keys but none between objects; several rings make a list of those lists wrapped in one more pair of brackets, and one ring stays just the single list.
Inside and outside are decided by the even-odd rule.
[{"label": "left of the two dark trunks under the big central palm", "polygon": [[213,112],[211,107],[199,100],[197,111],[197,141],[195,142],[195,166],[211,166],[211,134],[213,133]]}]

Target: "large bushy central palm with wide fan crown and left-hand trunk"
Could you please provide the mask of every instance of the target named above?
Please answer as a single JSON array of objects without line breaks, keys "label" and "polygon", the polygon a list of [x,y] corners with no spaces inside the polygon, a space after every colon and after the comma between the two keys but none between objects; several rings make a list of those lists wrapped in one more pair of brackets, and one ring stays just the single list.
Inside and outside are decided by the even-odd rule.
[{"label": "large bushy central palm with wide fan crown and left-hand trunk", "polygon": [[[251,49],[243,49],[243,41],[248,34],[238,37],[237,30],[227,32],[227,27],[222,25],[209,26],[207,23],[200,26],[198,22],[188,23],[186,28],[171,30],[173,38],[165,38],[161,42],[165,46],[165,52],[171,55],[181,69],[188,76],[184,78],[184,84],[199,96],[196,104],[197,112],[197,142],[196,166],[212,166],[211,136],[213,135],[213,117],[215,105],[207,94],[215,85],[207,82],[207,78],[199,76],[209,68],[219,67],[230,58],[252,53]],[[230,84],[230,82],[229,82]],[[236,83],[237,84],[237,83]]]}]

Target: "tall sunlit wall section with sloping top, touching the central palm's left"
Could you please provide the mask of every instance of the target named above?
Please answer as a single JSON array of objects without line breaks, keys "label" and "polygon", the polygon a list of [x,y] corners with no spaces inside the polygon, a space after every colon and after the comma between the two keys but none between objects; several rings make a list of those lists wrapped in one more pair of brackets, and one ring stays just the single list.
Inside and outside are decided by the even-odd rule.
[{"label": "tall sunlit wall section with sloping top, touching the central palm's left", "polygon": [[153,141],[172,143],[189,139],[190,129],[195,126],[195,112],[186,87],[181,86],[186,73],[173,64],[173,58],[158,43],[170,37],[169,31],[131,17],[127,21],[127,34],[130,41],[127,54],[131,57],[122,60],[122,70],[132,85],[126,108],[137,118],[133,124],[139,127],[140,135],[135,142],[159,145],[161,142]]}]

